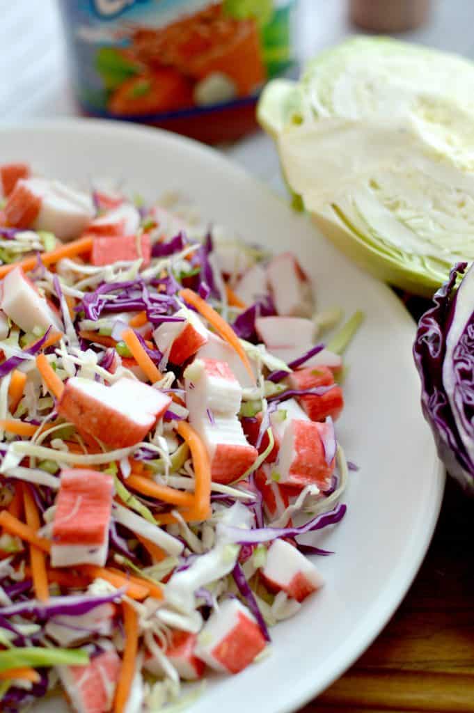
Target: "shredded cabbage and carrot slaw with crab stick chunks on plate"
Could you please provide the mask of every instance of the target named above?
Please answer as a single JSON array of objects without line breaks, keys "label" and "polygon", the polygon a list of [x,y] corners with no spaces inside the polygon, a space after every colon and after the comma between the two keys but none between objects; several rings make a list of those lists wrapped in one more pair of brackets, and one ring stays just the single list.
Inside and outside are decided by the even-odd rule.
[{"label": "shredded cabbage and carrot slaw with crab stick chunks on plate", "polygon": [[60,685],[78,712],[171,710],[323,584],[304,555],[331,553],[299,537],[346,511],[363,315],[325,345],[341,314],[291,253],[26,164],[0,178],[2,706]]}]

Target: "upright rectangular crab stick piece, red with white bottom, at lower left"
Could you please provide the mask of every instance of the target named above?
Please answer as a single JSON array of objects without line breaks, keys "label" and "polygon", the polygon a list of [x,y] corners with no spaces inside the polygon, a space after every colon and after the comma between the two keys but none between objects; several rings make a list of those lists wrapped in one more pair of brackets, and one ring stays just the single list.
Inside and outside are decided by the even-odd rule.
[{"label": "upright rectangular crab stick piece, red with white bottom, at lower left", "polygon": [[51,565],[99,565],[108,553],[113,478],[82,468],[63,470],[53,520]]}]

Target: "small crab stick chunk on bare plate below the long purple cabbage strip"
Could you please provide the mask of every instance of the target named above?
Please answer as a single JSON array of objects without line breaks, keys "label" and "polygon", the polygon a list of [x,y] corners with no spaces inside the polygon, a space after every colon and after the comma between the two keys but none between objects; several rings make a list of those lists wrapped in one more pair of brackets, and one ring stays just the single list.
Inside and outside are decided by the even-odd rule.
[{"label": "small crab stick chunk on bare plate below the long purple cabbage strip", "polygon": [[273,541],[261,572],[270,589],[282,591],[297,602],[324,583],[314,564],[286,540]]}]

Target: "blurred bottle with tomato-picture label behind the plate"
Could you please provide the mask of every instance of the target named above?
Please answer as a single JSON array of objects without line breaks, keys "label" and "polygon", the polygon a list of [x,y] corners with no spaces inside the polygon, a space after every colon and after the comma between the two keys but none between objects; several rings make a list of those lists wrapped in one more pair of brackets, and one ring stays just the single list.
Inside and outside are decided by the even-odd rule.
[{"label": "blurred bottle with tomato-picture label behind the plate", "polygon": [[205,141],[257,127],[270,78],[294,68],[294,0],[60,0],[83,113]]}]

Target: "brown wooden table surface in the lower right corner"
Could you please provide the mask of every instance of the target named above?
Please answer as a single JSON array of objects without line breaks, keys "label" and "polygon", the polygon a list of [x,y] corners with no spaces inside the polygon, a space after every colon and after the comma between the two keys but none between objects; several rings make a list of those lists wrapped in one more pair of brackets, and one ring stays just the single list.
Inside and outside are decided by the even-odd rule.
[{"label": "brown wooden table surface in the lower right corner", "polygon": [[474,498],[446,483],[421,570],[359,661],[300,713],[474,712]]}]

